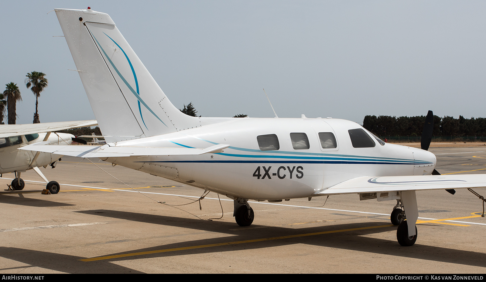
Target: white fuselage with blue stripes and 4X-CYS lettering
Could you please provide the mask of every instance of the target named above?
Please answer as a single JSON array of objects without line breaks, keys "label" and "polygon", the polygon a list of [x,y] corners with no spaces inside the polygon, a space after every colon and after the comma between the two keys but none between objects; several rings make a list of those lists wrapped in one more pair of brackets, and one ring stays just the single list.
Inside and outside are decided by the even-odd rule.
[{"label": "white fuselage with blue stripes and 4X-CYS lettering", "polygon": [[103,160],[230,198],[255,200],[311,197],[360,176],[428,175],[436,162],[428,151],[385,144],[354,122],[331,118],[232,118],[109,145],[206,148],[212,144],[231,146],[202,155]]}]

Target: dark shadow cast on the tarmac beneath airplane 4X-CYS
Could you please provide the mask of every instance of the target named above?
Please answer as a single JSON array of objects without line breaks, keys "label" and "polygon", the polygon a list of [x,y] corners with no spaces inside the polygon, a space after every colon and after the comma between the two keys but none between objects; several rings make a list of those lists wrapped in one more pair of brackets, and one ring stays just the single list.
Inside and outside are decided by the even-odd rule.
[{"label": "dark shadow cast on the tarmac beneath airplane 4X-CYS", "polygon": [[[360,228],[368,226],[383,226],[379,228],[352,230],[339,233],[328,233],[311,236],[299,236],[294,238],[285,238],[278,240],[264,240],[260,242],[251,242],[243,244],[232,244],[231,247],[225,245],[210,246],[210,247],[196,247],[185,250],[176,250],[170,252],[159,252],[155,254],[130,256],[126,258],[111,258],[107,261],[122,261],[126,259],[136,258],[152,258],[152,257],[167,257],[175,255],[185,254],[201,254],[201,253],[213,253],[213,252],[225,252],[234,251],[238,249],[252,249],[252,248],[266,248],[281,245],[292,244],[312,244],[330,248],[340,248],[347,250],[356,250],[369,253],[386,254],[399,257],[414,258],[420,260],[429,260],[435,262],[444,263],[458,263],[471,266],[484,267],[486,261],[486,254],[481,252],[465,251],[445,247],[429,246],[415,244],[411,247],[400,246],[396,241],[383,240],[377,238],[364,237],[362,235],[381,233],[386,231],[395,231],[396,226],[389,225],[389,222],[364,222],[364,223],[351,223],[351,224],[339,224],[330,226],[317,226],[317,227],[305,227],[305,228],[286,228],[280,226],[258,226],[252,225],[249,227],[240,227],[235,223],[198,220],[192,218],[178,218],[163,215],[151,215],[134,212],[124,212],[116,210],[86,210],[77,211],[80,213],[93,214],[108,218],[118,218],[124,220],[131,220],[137,222],[144,222],[150,224],[159,224],[164,226],[176,226],[183,228],[190,228],[193,230],[205,230],[218,233],[231,234],[230,237],[210,238],[203,240],[186,241],[175,244],[163,244],[143,249],[134,249],[122,253],[106,254],[106,256],[115,256],[120,254],[130,254],[139,252],[148,252],[156,250],[165,250],[173,248],[182,248],[189,246],[201,246],[208,244],[222,244],[235,241],[254,240],[262,238],[275,238],[283,236],[292,236],[298,234],[308,234],[314,232],[325,232],[332,230]],[[395,232],[393,232],[394,234]],[[235,238],[234,236],[238,236]],[[394,239],[394,238],[393,238]],[[87,262],[97,263],[100,261]]]}]

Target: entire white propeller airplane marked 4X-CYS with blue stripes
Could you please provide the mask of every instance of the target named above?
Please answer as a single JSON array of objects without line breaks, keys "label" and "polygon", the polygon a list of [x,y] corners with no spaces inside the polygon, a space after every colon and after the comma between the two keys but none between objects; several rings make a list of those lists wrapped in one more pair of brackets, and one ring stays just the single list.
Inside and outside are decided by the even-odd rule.
[{"label": "entire white propeller airplane marked 4X-CYS with blue stripes", "polygon": [[438,172],[427,151],[430,124],[420,150],[386,144],[342,119],[188,116],[169,101],[107,14],[55,12],[107,144],[25,150],[98,157],[226,195],[240,226],[253,222],[248,199],[360,194],[396,200],[391,220],[401,245],[417,240],[416,190],[486,187],[485,174],[431,175]]}]

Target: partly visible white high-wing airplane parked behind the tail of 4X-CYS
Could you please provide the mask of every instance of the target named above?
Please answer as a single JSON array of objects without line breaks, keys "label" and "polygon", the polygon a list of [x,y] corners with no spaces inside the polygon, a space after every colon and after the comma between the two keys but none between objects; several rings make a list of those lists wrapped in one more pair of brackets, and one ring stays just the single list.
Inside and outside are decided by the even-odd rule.
[{"label": "partly visible white high-wing airplane parked behind the tail of 4X-CYS", "polygon": [[70,145],[74,135],[53,131],[95,125],[96,120],[0,125],[0,177],[3,173],[14,172],[15,179],[9,188],[22,190],[25,182],[20,178],[20,173],[34,169],[46,181],[46,188],[52,194],[56,194],[59,192],[59,183],[48,181],[39,167],[45,168],[50,165],[55,168],[62,155],[19,149],[39,141],[46,144]]}]

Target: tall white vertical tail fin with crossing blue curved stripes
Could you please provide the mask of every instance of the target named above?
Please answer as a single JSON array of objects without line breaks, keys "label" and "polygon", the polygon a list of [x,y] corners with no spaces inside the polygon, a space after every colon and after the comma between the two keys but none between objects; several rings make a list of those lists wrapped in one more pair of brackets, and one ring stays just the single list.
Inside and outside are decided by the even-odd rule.
[{"label": "tall white vertical tail fin with crossing blue curved stripes", "polygon": [[198,127],[169,101],[107,14],[55,9],[107,142]]}]

